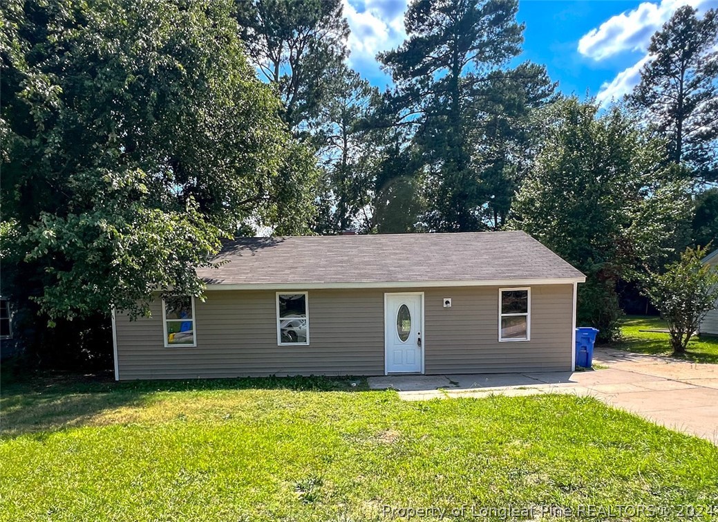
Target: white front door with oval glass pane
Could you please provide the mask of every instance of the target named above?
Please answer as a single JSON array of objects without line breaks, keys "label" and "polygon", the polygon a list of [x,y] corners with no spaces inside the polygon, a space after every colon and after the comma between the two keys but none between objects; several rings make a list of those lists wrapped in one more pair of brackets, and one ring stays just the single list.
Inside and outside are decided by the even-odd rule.
[{"label": "white front door with oval glass pane", "polygon": [[424,294],[385,294],[386,373],[423,373]]}]

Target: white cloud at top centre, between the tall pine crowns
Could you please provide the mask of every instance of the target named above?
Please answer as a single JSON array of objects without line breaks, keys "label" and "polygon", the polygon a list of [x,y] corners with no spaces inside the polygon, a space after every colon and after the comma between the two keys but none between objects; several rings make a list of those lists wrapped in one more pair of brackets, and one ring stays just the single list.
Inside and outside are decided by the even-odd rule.
[{"label": "white cloud at top centre, between the tall pine crowns", "polygon": [[[359,7],[343,0],[344,16],[349,23],[349,62],[376,65],[376,53],[397,47],[404,41],[406,0],[365,0]],[[363,7],[363,9],[361,9]],[[361,10],[360,10],[361,9]],[[378,67],[378,65],[376,65]]]}]

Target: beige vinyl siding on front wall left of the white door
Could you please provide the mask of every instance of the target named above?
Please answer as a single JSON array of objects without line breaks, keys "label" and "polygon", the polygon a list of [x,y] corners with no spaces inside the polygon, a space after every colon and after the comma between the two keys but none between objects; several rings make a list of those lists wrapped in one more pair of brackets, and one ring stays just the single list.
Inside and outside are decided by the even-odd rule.
[{"label": "beige vinyl siding on front wall left of the white door", "polygon": [[119,378],[378,375],[382,299],[380,290],[309,292],[310,345],[278,346],[276,292],[207,292],[195,301],[196,348],[164,348],[157,299],[151,319],[117,316]]}]

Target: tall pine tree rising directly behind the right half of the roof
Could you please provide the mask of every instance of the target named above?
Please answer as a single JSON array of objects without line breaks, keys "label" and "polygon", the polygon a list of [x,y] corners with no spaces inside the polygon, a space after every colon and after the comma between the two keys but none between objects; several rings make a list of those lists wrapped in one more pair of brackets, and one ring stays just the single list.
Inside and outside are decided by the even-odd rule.
[{"label": "tall pine tree rising directly behind the right half of the roof", "polygon": [[398,123],[415,130],[429,230],[481,228],[467,106],[485,73],[520,52],[517,9],[516,0],[418,0],[406,11],[404,44],[379,55],[396,83]]}]

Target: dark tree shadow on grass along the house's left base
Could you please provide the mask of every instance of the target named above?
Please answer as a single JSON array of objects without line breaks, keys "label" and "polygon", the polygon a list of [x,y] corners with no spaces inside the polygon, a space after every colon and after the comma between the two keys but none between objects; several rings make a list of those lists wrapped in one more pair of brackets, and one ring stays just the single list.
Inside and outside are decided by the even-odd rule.
[{"label": "dark tree shadow on grass along the house's left base", "polygon": [[95,424],[104,412],[148,406],[157,393],[235,390],[368,391],[368,386],[365,378],[349,376],[115,382],[106,375],[40,373],[21,380],[3,379],[0,439]]}]

